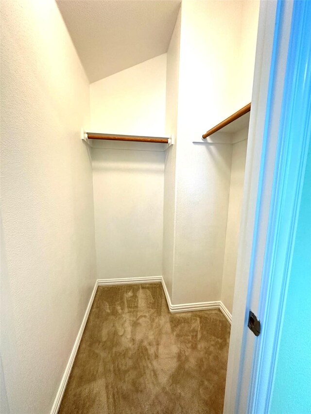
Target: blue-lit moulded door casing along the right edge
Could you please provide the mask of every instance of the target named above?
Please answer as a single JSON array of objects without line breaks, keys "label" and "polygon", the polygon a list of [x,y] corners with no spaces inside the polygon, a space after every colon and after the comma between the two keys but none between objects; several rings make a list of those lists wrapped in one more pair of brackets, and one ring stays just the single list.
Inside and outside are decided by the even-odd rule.
[{"label": "blue-lit moulded door casing along the right edge", "polygon": [[[311,140],[311,2],[294,1],[290,4],[279,1],[277,15],[279,23],[276,24],[275,33],[279,43],[281,44],[284,34],[290,36],[281,114],[276,125],[277,148],[258,308],[258,315],[263,323],[262,333],[255,343],[253,353],[248,387],[249,413],[270,412]],[[289,22],[287,17],[290,17]],[[282,48],[277,53],[280,51]],[[277,59],[280,60],[278,55]],[[274,83],[275,75],[271,84]],[[272,89],[272,97],[273,94]],[[275,124],[274,114],[269,114],[269,117],[270,124]],[[273,131],[268,129],[268,140],[271,141],[273,135]]]}]

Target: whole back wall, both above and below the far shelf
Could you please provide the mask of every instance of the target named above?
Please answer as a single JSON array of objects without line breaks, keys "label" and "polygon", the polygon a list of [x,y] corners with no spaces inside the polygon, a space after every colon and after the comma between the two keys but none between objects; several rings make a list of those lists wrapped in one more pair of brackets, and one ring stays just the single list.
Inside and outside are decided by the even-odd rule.
[{"label": "whole back wall, both above and below the far shelf", "polygon": [[[91,129],[163,136],[165,97],[166,54],[92,83]],[[157,144],[96,145],[106,147],[92,149],[97,276],[159,276],[165,152]]]}]

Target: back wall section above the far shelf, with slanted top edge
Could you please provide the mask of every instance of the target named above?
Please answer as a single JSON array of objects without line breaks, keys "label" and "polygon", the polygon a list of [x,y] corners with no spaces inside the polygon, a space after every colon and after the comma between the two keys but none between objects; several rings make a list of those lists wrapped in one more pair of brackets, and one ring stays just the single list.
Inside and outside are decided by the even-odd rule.
[{"label": "back wall section above the far shelf, with slanted top edge", "polygon": [[163,136],[166,53],[90,85],[93,131]]}]

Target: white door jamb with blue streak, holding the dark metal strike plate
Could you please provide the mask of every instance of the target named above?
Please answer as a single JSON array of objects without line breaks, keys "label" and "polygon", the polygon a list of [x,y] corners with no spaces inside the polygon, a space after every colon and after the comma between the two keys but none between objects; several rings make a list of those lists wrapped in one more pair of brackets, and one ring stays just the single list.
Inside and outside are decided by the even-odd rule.
[{"label": "white door jamb with blue streak, holding the dark metal strike plate", "polygon": [[[254,349],[262,334],[261,337],[255,337],[247,328],[247,319],[249,309],[256,315],[259,315],[259,311],[263,315],[266,309],[259,299],[266,259],[270,205],[274,197],[278,132],[292,12],[293,1],[260,2],[241,238],[225,389],[224,413],[228,414],[247,413],[256,406],[249,396],[258,391],[258,376],[256,377],[256,367],[252,363]],[[257,378],[256,384],[251,381],[253,377]]]}]

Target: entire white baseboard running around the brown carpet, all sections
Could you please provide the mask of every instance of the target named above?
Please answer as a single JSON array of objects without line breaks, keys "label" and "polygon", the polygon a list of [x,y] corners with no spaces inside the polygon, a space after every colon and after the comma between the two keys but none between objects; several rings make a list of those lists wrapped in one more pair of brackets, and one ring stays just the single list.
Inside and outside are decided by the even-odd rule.
[{"label": "entire white baseboard running around the brown carpet, all sections", "polygon": [[66,385],[67,382],[69,380],[69,376],[70,376],[70,372],[74,363],[74,359],[76,357],[80,342],[81,342],[81,338],[84,332],[84,329],[86,327],[86,322],[87,322],[87,318],[89,315],[89,312],[91,310],[92,304],[93,304],[93,300],[95,298],[95,294],[97,291],[97,287],[98,286],[111,286],[111,285],[121,285],[121,284],[137,284],[137,283],[155,283],[155,282],[160,282],[162,284],[163,290],[164,290],[164,294],[165,294],[165,298],[168,304],[168,308],[170,310],[170,312],[172,313],[177,313],[177,312],[191,312],[191,311],[204,311],[207,309],[220,309],[221,312],[225,315],[226,319],[228,320],[228,322],[231,324],[231,314],[230,312],[227,310],[227,308],[225,307],[225,305],[223,304],[223,302],[221,302],[220,300],[214,301],[214,302],[197,302],[197,303],[183,303],[180,305],[172,305],[171,302],[171,298],[170,295],[168,293],[168,290],[166,288],[164,279],[162,276],[150,276],[150,277],[145,277],[145,278],[124,278],[124,279],[98,279],[95,282],[95,286],[92,292],[92,295],[89,299],[87,308],[86,308],[86,313],[83,317],[82,320],[82,324],[81,327],[79,329],[77,338],[75,340],[74,346],[72,348],[70,357],[69,357],[69,361],[68,364],[66,366],[62,381],[60,383],[60,386],[58,388],[53,406],[52,406],[52,410],[51,410],[51,414],[57,414],[60,404],[62,402],[62,398],[64,396],[65,393],[65,389],[66,389]]}]

